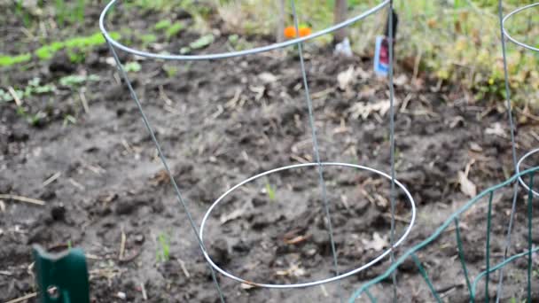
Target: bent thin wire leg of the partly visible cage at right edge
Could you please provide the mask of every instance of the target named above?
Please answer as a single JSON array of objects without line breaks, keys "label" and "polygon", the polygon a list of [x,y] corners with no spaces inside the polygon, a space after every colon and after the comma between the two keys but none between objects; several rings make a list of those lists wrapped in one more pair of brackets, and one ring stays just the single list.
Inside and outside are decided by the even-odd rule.
[{"label": "bent thin wire leg of the partly visible cage at right edge", "polygon": [[[504,7],[503,0],[498,0],[498,18],[500,19],[500,39],[502,41],[502,54],[504,56],[504,81],[505,81],[505,103],[507,109],[507,115],[509,119],[509,126],[511,128],[511,147],[512,147],[512,162],[515,167],[515,172],[518,172],[518,162],[517,162],[517,151],[515,144],[515,125],[512,120],[512,105],[511,105],[511,90],[509,89],[509,72],[507,70],[507,50],[505,47],[505,35],[504,35]],[[519,190],[519,183],[513,185],[513,194],[512,194],[512,206],[511,214],[509,216],[509,223],[507,226],[507,235],[505,236],[504,243],[504,260],[507,259],[507,253],[509,252],[509,247],[511,246],[511,233],[512,233],[512,223],[515,214],[515,208],[517,204],[517,193]],[[504,288],[504,268],[500,268],[500,277],[498,281],[497,291],[496,291],[496,303],[499,303],[500,297],[502,296]]]}]

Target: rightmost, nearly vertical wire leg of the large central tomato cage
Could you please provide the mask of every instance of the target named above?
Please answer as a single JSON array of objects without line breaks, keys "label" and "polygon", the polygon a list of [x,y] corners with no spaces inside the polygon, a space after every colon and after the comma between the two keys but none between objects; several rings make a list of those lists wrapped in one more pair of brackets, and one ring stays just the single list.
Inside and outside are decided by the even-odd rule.
[{"label": "rightmost, nearly vertical wire leg of the large central tomato cage", "polygon": [[[389,7],[388,7],[388,18],[389,18],[389,24],[387,25],[387,33],[388,33],[388,43],[389,43],[389,140],[390,140],[390,161],[391,161],[391,192],[390,192],[390,199],[391,199],[391,234],[389,236],[389,242],[391,243],[391,247],[394,245],[394,87],[393,87],[393,67],[394,67],[394,33],[393,33],[393,0],[389,1]],[[394,251],[391,251],[391,264],[394,264]],[[396,278],[396,270],[391,274],[391,280],[393,283],[393,301],[397,301],[397,278]]]}]

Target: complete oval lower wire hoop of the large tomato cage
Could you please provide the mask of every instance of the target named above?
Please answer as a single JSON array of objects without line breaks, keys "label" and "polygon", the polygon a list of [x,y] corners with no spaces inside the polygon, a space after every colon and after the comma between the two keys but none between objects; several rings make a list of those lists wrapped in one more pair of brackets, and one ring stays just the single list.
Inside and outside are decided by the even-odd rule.
[{"label": "complete oval lower wire hoop of the large tomato cage", "polygon": [[[387,175],[386,173],[381,172],[381,171],[379,171],[377,169],[374,169],[374,168],[371,168],[371,167],[364,167],[364,166],[361,166],[361,165],[340,163],[340,162],[322,162],[321,165],[325,166],[325,167],[352,167],[352,168],[356,168],[356,169],[366,170],[366,171],[369,171],[371,173],[381,175],[381,176],[383,176],[384,178],[386,178],[388,180],[391,180],[391,175]],[[232,191],[237,190],[239,187],[245,185],[246,183],[250,183],[250,182],[252,182],[252,181],[254,181],[254,180],[258,179],[258,178],[261,178],[262,176],[265,176],[265,175],[270,175],[270,174],[274,174],[274,173],[277,173],[277,172],[280,172],[280,171],[293,169],[293,168],[317,167],[317,166],[318,166],[318,163],[312,163],[311,162],[311,163],[294,164],[294,165],[290,165],[290,166],[286,166],[286,167],[278,167],[278,168],[271,169],[269,171],[263,172],[261,174],[254,175],[254,176],[246,179],[245,181],[243,181],[241,183],[238,183],[235,186],[231,187],[230,190],[227,190],[226,192],[223,193],[223,195],[221,195],[221,197],[217,198],[215,200],[214,204],[212,204],[212,206],[210,206],[208,208],[206,214],[204,214],[204,218],[202,219],[202,222],[200,223],[200,229],[199,229],[199,237],[200,237],[200,239],[202,240],[202,242],[204,242],[204,227],[206,226],[206,222],[207,222],[207,219],[209,218],[209,215],[212,213],[215,206],[219,205],[219,203],[221,203],[223,201],[223,198],[226,198]],[[408,227],[406,228],[406,230],[402,234],[402,237],[400,237],[394,243],[393,247],[388,248],[386,251],[379,254],[378,257],[376,257],[375,259],[373,259],[373,260],[369,261],[368,263],[362,265],[361,267],[352,269],[352,270],[350,270],[350,271],[348,271],[348,272],[346,272],[344,274],[340,274],[339,276],[332,276],[331,278],[325,278],[325,279],[316,280],[316,281],[307,282],[307,283],[301,283],[301,284],[259,284],[259,283],[254,283],[252,281],[247,281],[247,280],[242,279],[242,278],[240,278],[238,276],[234,276],[234,275],[230,274],[228,271],[224,270],[223,268],[220,268],[219,266],[217,266],[215,264],[215,262],[211,259],[211,257],[207,254],[206,251],[203,252],[204,257],[206,258],[207,262],[209,264],[211,264],[211,266],[213,268],[215,268],[215,270],[217,270],[218,272],[220,272],[224,276],[227,276],[230,279],[236,280],[236,281],[238,281],[240,283],[250,284],[250,285],[254,285],[254,286],[258,286],[258,287],[264,287],[264,288],[279,288],[279,289],[303,288],[303,287],[315,286],[315,285],[319,285],[319,284],[328,284],[328,283],[339,281],[339,280],[341,280],[341,279],[343,279],[345,277],[355,275],[355,274],[357,274],[357,273],[359,273],[359,272],[361,272],[361,271],[363,271],[363,270],[365,270],[367,268],[370,268],[372,265],[378,263],[379,260],[382,260],[384,257],[387,256],[387,254],[391,253],[394,250],[394,248],[396,248],[398,245],[401,245],[402,242],[406,239],[406,237],[408,237],[408,234],[410,233],[410,230],[412,229],[412,227],[414,225],[414,222],[416,220],[416,204],[415,204],[414,198],[411,197],[410,191],[408,191],[406,189],[406,187],[404,185],[402,185],[402,183],[400,183],[397,180],[394,180],[394,183],[399,188],[401,188],[401,190],[406,194],[406,197],[408,198],[408,200],[410,202],[410,208],[411,208],[410,224],[408,225]]]}]

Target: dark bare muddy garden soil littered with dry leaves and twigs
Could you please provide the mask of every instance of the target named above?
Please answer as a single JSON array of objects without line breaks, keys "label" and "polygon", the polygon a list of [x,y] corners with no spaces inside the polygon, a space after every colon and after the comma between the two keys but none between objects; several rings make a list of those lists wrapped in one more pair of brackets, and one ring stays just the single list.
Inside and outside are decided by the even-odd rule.
[{"label": "dark bare muddy garden soil littered with dry leaves and twigs", "polygon": [[[223,50],[225,44],[223,38],[206,51]],[[389,173],[388,115],[383,108],[387,82],[371,73],[369,58],[334,58],[330,50],[308,50],[321,158]],[[92,302],[143,302],[143,289],[148,302],[217,302],[184,209],[137,106],[110,64],[111,55],[102,47],[80,65],[66,64],[62,56],[66,55],[59,53],[50,62],[18,71],[9,83],[2,83],[5,88],[24,85],[35,76],[52,82],[67,73],[100,78],[82,88],[60,88],[52,97],[23,100],[33,112],[47,111],[46,119],[35,126],[18,115],[14,103],[0,105],[0,193],[46,202],[33,206],[10,198],[2,201],[0,301],[36,291],[29,268],[31,245],[59,251],[71,243],[89,255]],[[125,54],[121,58],[134,60]],[[167,73],[163,62],[139,63],[142,70],[129,76],[197,225],[216,198],[249,176],[313,161],[295,51],[166,63],[165,69],[174,66],[176,74]],[[402,66],[396,70],[396,176],[415,199],[418,217],[397,256],[428,237],[470,198],[460,188],[458,172],[469,170],[477,192],[512,173],[510,134],[501,100],[470,102],[465,89],[438,85],[426,75],[410,79],[410,71]],[[338,75],[349,68],[354,68],[354,76],[340,83]],[[82,94],[88,113],[80,105]],[[66,123],[66,114],[75,116],[76,122]],[[519,154],[537,145],[535,126],[533,120],[520,123]],[[387,249],[389,183],[379,175],[342,167],[325,167],[324,178],[339,270],[347,272]],[[527,248],[526,201],[522,190],[511,253]],[[485,268],[487,202],[484,199],[460,220],[472,276]],[[511,202],[512,186],[496,191],[490,239],[493,264],[503,256]],[[410,221],[409,202],[402,191],[396,215],[396,237],[400,237]],[[204,241],[215,263],[231,274],[255,283],[304,283],[335,274],[324,218],[316,167],[296,168],[232,191],[208,219]],[[168,260],[160,260],[165,248],[160,237],[168,239]],[[443,300],[467,301],[454,232],[420,251],[418,258]],[[399,301],[434,301],[409,261],[397,275]],[[523,261],[507,269],[503,301],[524,298]],[[229,302],[336,302],[338,293],[348,299],[388,266],[386,258],[342,280],[340,291],[338,284],[269,290],[223,275],[218,279]],[[490,295],[496,290],[496,279],[497,275],[491,276]],[[371,293],[389,301],[390,285],[385,281]],[[533,286],[539,300],[536,276]],[[119,292],[126,299],[120,299]],[[484,299],[483,292],[480,284],[478,296]]]}]

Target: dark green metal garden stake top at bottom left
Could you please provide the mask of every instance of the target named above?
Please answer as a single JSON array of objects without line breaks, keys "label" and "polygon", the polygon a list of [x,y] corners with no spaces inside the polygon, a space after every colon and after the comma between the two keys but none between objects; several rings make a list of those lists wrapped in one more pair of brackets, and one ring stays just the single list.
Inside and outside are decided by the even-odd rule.
[{"label": "dark green metal garden stake top at bottom left", "polygon": [[88,268],[82,249],[47,253],[34,245],[34,259],[42,303],[90,303]]}]

